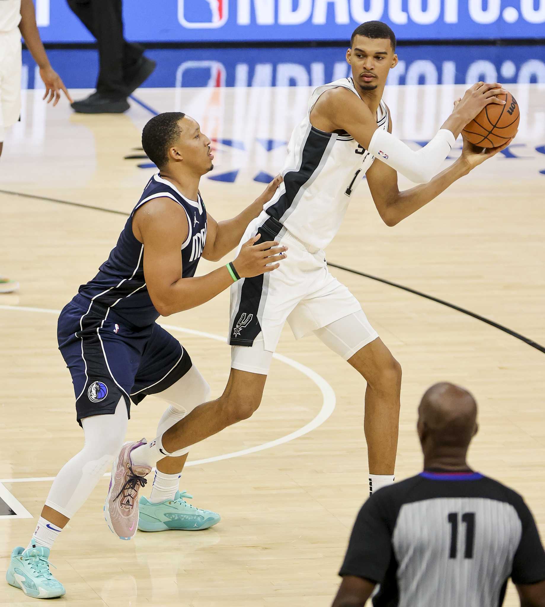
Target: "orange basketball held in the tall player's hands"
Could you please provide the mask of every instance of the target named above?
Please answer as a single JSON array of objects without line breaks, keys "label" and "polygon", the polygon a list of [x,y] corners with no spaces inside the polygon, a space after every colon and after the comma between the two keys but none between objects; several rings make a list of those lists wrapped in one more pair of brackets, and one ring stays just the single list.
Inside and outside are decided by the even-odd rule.
[{"label": "orange basketball held in the tall player's hands", "polygon": [[498,95],[506,104],[489,103],[462,131],[467,139],[481,148],[497,148],[509,141],[518,129],[520,111],[511,93]]}]

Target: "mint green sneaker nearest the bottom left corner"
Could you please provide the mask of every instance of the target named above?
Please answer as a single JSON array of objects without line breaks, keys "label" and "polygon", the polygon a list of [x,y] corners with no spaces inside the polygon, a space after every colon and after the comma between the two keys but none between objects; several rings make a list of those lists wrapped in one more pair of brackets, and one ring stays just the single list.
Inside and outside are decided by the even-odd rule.
[{"label": "mint green sneaker nearest the bottom left corner", "polygon": [[[12,561],[5,572],[8,584],[20,588],[27,597],[54,599],[66,594],[64,586],[49,571],[49,548],[36,546],[13,549]],[[55,565],[53,565],[54,567]]]}]

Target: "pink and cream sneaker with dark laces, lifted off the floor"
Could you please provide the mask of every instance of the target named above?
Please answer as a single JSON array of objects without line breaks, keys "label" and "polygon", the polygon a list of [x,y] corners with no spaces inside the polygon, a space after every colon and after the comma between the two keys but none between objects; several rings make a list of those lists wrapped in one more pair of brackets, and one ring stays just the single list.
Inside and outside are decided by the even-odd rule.
[{"label": "pink and cream sneaker with dark laces, lifted off the floor", "polygon": [[133,466],[130,452],[145,444],[144,438],[137,443],[125,443],[113,462],[104,518],[120,540],[130,540],[138,529],[138,491],[147,483],[144,476],[151,472],[151,466]]}]

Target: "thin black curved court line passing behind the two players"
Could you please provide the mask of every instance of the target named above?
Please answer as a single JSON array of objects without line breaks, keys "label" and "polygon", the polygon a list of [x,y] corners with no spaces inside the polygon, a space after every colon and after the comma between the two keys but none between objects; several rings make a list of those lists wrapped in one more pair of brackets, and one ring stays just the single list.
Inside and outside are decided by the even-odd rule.
[{"label": "thin black curved court line passing behind the two players", "polygon": [[[0,189],[0,194],[10,194],[12,196],[21,196],[23,198],[33,198],[36,200],[45,200],[46,202],[56,202],[60,205],[77,206],[77,207],[83,208],[83,209],[93,209],[93,211],[104,211],[106,213],[113,213],[115,215],[124,215],[124,217],[129,216],[129,214],[124,211],[116,211],[115,209],[106,209],[103,206],[83,205],[79,202],[71,202],[70,200],[59,200],[58,198],[48,198],[46,196],[39,196],[36,194],[24,194],[22,192],[12,192],[12,191],[3,190],[3,189]],[[481,320],[481,322],[484,322],[487,325],[490,325],[490,327],[495,327],[496,329],[499,329],[500,331],[503,331],[504,333],[507,333],[508,335],[510,335],[512,337],[515,337],[515,339],[519,339],[521,342],[524,342],[524,344],[527,344],[527,345],[531,346],[532,348],[535,348],[536,350],[539,350],[540,352],[543,352],[545,354],[545,346],[538,344],[537,342],[533,341],[533,339],[530,339],[529,337],[525,337],[524,335],[517,333],[516,331],[513,331],[512,329],[505,327],[504,325],[500,325],[498,322],[495,322],[494,320],[490,320],[490,319],[486,318],[485,316],[481,316],[481,314],[476,314],[475,312],[466,310],[465,308],[461,308],[455,304],[450,304],[449,302],[445,301],[444,299],[439,299],[439,297],[434,297],[433,295],[428,295],[427,293],[422,293],[422,291],[417,291],[416,289],[411,289],[410,287],[405,287],[405,285],[400,285],[399,283],[391,282],[390,280],[386,280],[384,278],[379,278],[378,276],[373,276],[373,274],[366,274],[365,272],[361,272],[359,270],[354,270],[353,268],[347,268],[347,266],[342,266],[342,265],[339,265],[337,263],[332,263],[332,262],[327,262],[327,265],[331,266],[332,268],[337,268],[337,270],[344,270],[345,272],[357,274],[357,276],[363,276],[364,278],[376,280],[377,282],[382,282],[385,285],[389,285],[390,287],[395,287],[397,289],[401,289],[402,291],[407,291],[407,293],[413,293],[414,295],[418,295],[419,297],[424,297],[424,299],[429,299],[432,302],[436,302],[436,304],[441,304],[441,305],[446,306],[447,308],[452,308],[452,310],[461,312],[462,314],[467,314],[467,316],[471,316],[472,318]]]}]

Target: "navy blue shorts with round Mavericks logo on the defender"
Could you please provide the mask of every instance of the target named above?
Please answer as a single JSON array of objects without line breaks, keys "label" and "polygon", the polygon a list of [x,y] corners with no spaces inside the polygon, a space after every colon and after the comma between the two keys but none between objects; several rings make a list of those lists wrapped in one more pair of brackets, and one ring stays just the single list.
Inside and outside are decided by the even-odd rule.
[{"label": "navy blue shorts with round Mavericks logo on the defender", "polygon": [[112,310],[76,295],[59,316],[59,350],[72,375],[77,420],[115,412],[163,392],[191,368],[180,342],[157,323],[135,327]]}]

